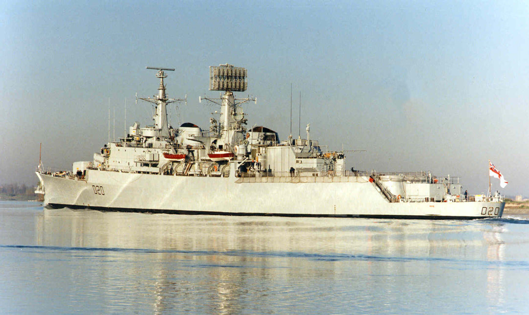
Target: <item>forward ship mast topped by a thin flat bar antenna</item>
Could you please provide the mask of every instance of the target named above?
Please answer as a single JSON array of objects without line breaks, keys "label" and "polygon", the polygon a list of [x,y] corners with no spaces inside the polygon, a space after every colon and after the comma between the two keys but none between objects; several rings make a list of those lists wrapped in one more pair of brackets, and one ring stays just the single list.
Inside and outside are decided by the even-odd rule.
[{"label": "forward ship mast topped by a thin flat bar antenna", "polygon": [[142,98],[144,101],[148,101],[156,105],[156,112],[152,118],[154,119],[154,127],[158,129],[160,137],[169,137],[169,122],[167,119],[167,104],[174,103],[175,101],[185,101],[184,99],[177,98],[167,98],[166,95],[166,86],[163,84],[163,79],[167,78],[167,75],[163,71],[175,71],[175,69],[170,68],[156,68],[156,67],[146,67],[151,70],[158,70],[156,77],[160,78],[160,86],[158,87],[158,95],[154,95],[154,98]]}]

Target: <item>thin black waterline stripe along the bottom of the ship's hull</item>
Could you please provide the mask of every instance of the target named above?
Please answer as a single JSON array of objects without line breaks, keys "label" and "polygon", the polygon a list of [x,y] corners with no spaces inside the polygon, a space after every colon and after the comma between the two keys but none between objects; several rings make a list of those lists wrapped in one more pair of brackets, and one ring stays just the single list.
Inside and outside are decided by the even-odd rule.
[{"label": "thin black waterline stripe along the bottom of the ship's hull", "polygon": [[196,211],[196,210],[168,210],[168,209],[139,209],[139,208],[108,208],[94,206],[62,205],[60,203],[49,203],[46,208],[60,209],[88,209],[111,212],[138,212],[148,214],[170,214],[170,215],[216,215],[216,216],[261,216],[261,217],[315,217],[315,218],[372,218],[372,219],[422,219],[422,220],[473,220],[492,217],[468,217],[468,216],[405,216],[405,215],[325,215],[325,214],[271,214],[253,212],[222,212],[222,211]]}]

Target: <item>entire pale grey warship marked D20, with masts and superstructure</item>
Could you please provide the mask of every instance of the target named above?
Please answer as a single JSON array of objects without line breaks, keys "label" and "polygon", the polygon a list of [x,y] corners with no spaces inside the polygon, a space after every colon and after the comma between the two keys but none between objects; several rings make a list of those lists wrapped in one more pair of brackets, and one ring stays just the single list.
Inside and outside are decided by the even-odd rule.
[{"label": "entire pale grey warship marked D20, with masts and superstructure", "polygon": [[[248,71],[231,64],[209,67],[209,90],[199,98],[220,106],[203,129],[194,123],[172,128],[164,79],[175,69],[156,70],[158,93],[140,98],[154,104],[154,125],[129,127],[108,141],[92,161],[70,170],[39,164],[38,191],[47,208],[166,214],[239,216],[477,219],[501,217],[499,193],[462,193],[459,178],[430,172],[354,171],[344,151],[322,150],[317,140],[291,135],[280,140],[266,126],[247,128],[235,98],[248,87]],[[109,127],[110,128],[110,127]],[[110,132],[109,132],[110,134]],[[109,135],[110,138],[110,135]]]}]

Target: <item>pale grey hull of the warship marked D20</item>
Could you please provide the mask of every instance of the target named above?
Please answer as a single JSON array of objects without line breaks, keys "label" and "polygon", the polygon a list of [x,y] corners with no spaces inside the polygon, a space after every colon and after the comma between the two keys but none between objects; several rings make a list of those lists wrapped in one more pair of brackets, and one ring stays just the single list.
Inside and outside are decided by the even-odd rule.
[{"label": "pale grey hull of the warship marked D20", "polygon": [[85,180],[37,173],[47,208],[231,216],[482,219],[503,215],[505,202],[388,202],[368,178],[347,182],[236,182],[87,171]]}]

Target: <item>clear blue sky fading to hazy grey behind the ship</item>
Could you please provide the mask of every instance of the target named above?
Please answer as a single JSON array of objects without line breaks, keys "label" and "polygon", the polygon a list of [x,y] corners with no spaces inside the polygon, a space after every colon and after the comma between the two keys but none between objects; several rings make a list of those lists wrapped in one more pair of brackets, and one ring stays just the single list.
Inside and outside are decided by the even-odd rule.
[{"label": "clear blue sky fading to hazy grey behind the ship", "polygon": [[[355,169],[459,176],[488,187],[488,160],[529,197],[529,5],[430,1],[4,1],[0,4],[0,183],[37,182],[45,166],[89,161],[108,137],[151,124],[158,81],[176,68],[174,126],[207,127],[208,66],[249,71],[249,126],[302,133],[349,154]],[[114,109],[115,108],[115,109]],[[114,133],[114,119],[111,136]],[[298,119],[293,132],[297,136]],[[493,181],[493,189],[499,189]]]}]

